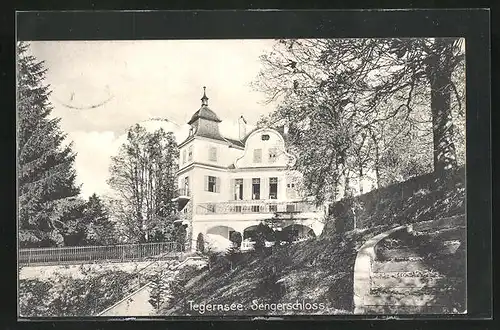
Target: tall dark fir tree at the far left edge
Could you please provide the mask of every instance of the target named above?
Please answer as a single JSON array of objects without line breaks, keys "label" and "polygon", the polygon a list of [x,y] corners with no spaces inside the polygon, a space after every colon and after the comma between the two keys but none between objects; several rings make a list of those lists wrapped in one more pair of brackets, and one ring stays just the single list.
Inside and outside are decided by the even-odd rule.
[{"label": "tall dark fir tree at the far left edge", "polygon": [[50,118],[46,69],[29,54],[29,44],[18,44],[17,160],[19,242],[21,247],[62,245],[66,222],[78,218],[82,202],[77,198],[73,163],[76,154]]}]

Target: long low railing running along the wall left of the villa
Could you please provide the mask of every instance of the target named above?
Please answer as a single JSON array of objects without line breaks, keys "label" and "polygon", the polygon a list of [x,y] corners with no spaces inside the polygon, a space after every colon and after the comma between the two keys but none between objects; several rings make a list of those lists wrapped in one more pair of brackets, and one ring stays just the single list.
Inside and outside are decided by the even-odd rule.
[{"label": "long low railing running along the wall left of the villa", "polygon": [[64,264],[101,260],[140,261],[181,251],[182,248],[177,242],[19,249],[19,264]]}]

